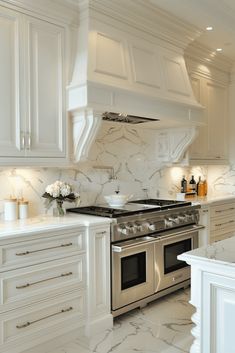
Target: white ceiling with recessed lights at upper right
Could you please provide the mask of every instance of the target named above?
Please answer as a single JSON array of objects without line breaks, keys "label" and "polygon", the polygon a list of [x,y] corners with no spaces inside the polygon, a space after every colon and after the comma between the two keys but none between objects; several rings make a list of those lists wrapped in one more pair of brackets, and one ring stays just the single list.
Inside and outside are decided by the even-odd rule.
[{"label": "white ceiling with recessed lights at upper right", "polygon": [[[223,55],[235,60],[235,0],[147,1],[203,30],[199,43],[212,51],[222,48]],[[213,31],[206,31],[207,26]]]}]

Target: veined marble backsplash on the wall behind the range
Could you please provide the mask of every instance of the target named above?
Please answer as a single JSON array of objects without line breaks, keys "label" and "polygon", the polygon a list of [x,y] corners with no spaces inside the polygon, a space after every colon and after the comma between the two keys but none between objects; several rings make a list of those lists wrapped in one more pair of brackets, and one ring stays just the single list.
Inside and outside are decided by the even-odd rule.
[{"label": "veined marble backsplash on the wall behind the range", "polygon": [[[58,179],[74,185],[81,195],[81,205],[105,203],[103,196],[117,188],[133,195],[133,199],[175,198],[182,175],[189,180],[192,174],[196,180],[199,175],[207,179],[210,195],[235,194],[235,166],[170,166],[165,161],[166,149],[156,143],[156,134],[150,130],[107,125],[86,162],[69,168],[1,168],[0,215],[4,198],[10,195],[29,200],[30,216],[44,213],[41,195]],[[114,178],[110,180],[112,169],[94,166],[113,168]]]}]

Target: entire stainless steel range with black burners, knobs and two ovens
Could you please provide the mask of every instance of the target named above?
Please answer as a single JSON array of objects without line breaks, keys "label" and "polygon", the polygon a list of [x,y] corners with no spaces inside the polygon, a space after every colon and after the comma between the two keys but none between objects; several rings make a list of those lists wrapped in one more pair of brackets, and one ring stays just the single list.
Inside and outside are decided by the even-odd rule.
[{"label": "entire stainless steel range with black burners, knobs and two ovens", "polygon": [[174,200],[137,200],[122,208],[88,206],[71,212],[112,218],[112,313],[186,287],[189,266],[177,259],[198,247],[199,205]]}]

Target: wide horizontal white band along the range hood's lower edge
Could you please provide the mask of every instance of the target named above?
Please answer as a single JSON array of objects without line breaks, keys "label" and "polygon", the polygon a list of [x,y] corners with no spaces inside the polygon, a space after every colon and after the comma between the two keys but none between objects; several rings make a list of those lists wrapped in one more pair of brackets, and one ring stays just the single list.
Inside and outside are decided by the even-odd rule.
[{"label": "wide horizontal white band along the range hood's lower edge", "polygon": [[[92,109],[101,117],[106,111],[156,119],[155,129],[177,126],[200,126],[201,105],[189,105],[167,98],[150,97],[139,92],[88,82],[69,86],[68,110]],[[148,127],[149,123],[144,124]],[[150,125],[149,125],[150,126]],[[150,127],[153,128],[153,125]]]}]

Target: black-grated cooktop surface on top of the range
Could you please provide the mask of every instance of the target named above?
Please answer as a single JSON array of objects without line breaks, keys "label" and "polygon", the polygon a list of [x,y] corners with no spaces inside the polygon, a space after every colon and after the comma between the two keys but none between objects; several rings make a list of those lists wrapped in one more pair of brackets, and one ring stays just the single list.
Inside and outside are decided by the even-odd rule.
[{"label": "black-grated cooktop surface on top of the range", "polygon": [[117,218],[124,215],[129,216],[138,213],[156,212],[190,205],[191,202],[185,201],[145,199],[128,202],[123,207],[85,206],[68,208],[67,212]]}]

